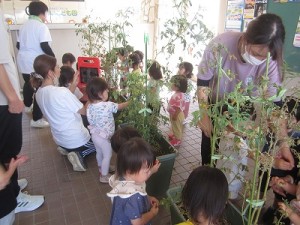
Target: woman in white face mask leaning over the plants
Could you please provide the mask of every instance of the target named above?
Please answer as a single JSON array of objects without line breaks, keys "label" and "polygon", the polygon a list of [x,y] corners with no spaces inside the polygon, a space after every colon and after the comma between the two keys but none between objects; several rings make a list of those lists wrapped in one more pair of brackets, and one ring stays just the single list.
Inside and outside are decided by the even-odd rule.
[{"label": "woman in white face mask leaning over the plants", "polygon": [[[259,85],[261,77],[266,73],[266,59],[269,52],[271,58],[268,65],[268,94],[275,95],[277,90],[275,85],[280,86],[283,80],[281,67],[284,38],[285,29],[282,20],[274,14],[263,14],[257,17],[249,23],[244,33],[227,32],[214,38],[206,48],[198,68],[197,86],[200,106],[222,99],[226,94],[234,91],[240,82],[243,89],[250,84]],[[218,55],[221,56],[222,69],[227,74],[230,71],[230,76],[221,76],[217,87]],[[210,89],[210,97],[208,97],[208,89]],[[251,94],[255,95],[255,90]],[[276,99],[275,104],[280,105],[280,102],[280,99]],[[202,165],[209,164],[211,161],[212,129],[209,124],[209,119],[202,119],[199,124],[202,130]],[[282,139],[287,136],[284,126],[281,136]],[[282,141],[281,147],[281,163],[283,162],[285,169],[291,169],[294,161],[290,149],[285,141]]]}]

